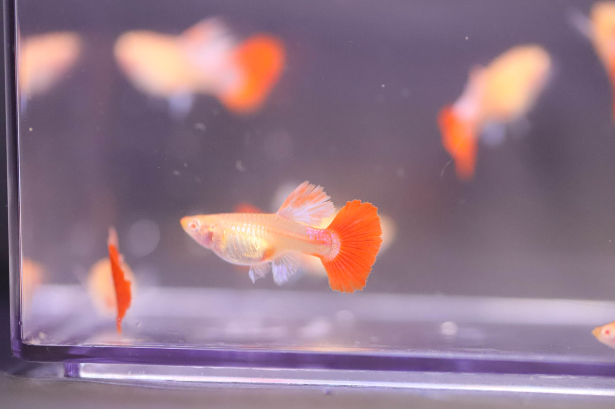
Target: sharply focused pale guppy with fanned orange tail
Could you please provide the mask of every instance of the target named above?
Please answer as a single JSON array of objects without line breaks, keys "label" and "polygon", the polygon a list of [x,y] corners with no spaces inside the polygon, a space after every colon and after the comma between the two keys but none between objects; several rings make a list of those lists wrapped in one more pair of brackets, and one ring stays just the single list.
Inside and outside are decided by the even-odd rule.
[{"label": "sharply focused pale guppy with fanned orange tail", "polygon": [[221,259],[250,266],[252,282],[272,271],[274,282],[284,284],[299,269],[300,254],[309,254],[320,258],[332,290],[362,290],[382,243],[378,209],[349,201],[328,227],[319,228],[334,212],[329,199],[322,187],[306,181],[274,214],[186,216],[181,226]]}]

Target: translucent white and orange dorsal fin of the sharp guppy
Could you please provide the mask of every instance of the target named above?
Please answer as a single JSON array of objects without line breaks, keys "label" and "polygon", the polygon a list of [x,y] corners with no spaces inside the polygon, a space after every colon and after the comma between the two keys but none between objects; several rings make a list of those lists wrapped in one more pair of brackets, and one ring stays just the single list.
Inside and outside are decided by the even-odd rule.
[{"label": "translucent white and orange dorsal fin of the sharp guppy", "polygon": [[335,212],[333,203],[329,199],[330,197],[324,192],[322,186],[312,185],[305,181],[288,195],[277,214],[317,227],[322,219]]}]

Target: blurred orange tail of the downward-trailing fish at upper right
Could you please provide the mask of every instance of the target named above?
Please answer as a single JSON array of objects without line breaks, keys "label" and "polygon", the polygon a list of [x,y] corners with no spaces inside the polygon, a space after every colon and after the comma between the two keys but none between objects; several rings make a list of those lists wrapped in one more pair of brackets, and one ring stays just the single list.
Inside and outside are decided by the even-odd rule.
[{"label": "blurred orange tail of the downward-trailing fish at upper right", "polygon": [[438,126],[442,133],[442,146],[453,157],[458,179],[469,181],[474,177],[478,149],[474,123],[459,118],[449,105],[438,114]]}]

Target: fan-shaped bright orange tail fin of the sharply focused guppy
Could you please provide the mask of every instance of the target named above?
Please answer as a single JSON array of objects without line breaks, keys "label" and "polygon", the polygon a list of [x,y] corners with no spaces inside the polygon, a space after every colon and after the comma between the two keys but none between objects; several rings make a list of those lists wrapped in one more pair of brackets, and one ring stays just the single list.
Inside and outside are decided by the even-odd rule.
[{"label": "fan-shaped bright orange tail fin of the sharply focused guppy", "polygon": [[333,246],[339,246],[332,258],[319,255],[329,277],[329,286],[340,292],[362,290],[382,244],[378,208],[360,200],[349,201],[327,231],[333,236]]}]

